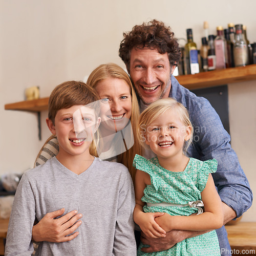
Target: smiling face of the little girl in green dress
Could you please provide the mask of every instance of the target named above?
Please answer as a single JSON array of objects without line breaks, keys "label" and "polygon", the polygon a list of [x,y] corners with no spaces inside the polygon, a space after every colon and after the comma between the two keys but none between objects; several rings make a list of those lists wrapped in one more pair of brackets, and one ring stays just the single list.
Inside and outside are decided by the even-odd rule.
[{"label": "smiling face of the little girl in green dress", "polygon": [[191,136],[191,126],[186,126],[178,114],[167,110],[146,127],[145,143],[159,158],[183,154],[183,144]]}]

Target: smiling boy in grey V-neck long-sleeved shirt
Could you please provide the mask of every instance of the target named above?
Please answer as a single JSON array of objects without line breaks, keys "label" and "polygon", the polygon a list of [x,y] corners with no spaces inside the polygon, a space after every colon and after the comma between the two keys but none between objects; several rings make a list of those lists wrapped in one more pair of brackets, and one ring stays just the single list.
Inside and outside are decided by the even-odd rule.
[{"label": "smiling boy in grey V-neck long-sleeved shirt", "polygon": [[13,203],[5,255],[31,255],[35,218],[60,209],[83,215],[78,237],[39,243],[36,255],[136,255],[131,176],[119,163],[90,154],[100,124],[99,98],[83,82],[57,86],[49,98],[49,130],[57,136],[56,157],[28,170]]}]

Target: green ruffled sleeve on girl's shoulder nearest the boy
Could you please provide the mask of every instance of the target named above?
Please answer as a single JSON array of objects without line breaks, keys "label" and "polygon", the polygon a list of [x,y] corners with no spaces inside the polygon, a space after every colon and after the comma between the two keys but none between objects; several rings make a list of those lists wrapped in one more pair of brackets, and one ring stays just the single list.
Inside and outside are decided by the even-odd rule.
[{"label": "green ruffled sleeve on girl's shoulder nearest the boy", "polygon": [[133,160],[133,166],[150,175],[151,185],[153,185],[156,190],[158,189],[159,183],[154,177],[156,177],[159,168],[151,160],[136,154]]}]

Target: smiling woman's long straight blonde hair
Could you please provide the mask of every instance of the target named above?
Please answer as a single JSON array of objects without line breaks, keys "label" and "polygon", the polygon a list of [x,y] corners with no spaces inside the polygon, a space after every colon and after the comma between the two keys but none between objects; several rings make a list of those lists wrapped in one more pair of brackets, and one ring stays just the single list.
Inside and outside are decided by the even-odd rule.
[{"label": "smiling woman's long straight blonde hair", "polygon": [[[107,63],[100,65],[90,74],[87,80],[87,84],[95,89],[99,81],[107,78],[120,78],[124,80],[130,87],[132,95],[132,115],[130,120],[132,124],[132,129],[135,133],[140,112],[137,96],[132,86],[129,75],[115,63]],[[133,181],[135,180],[136,173],[136,169],[133,167],[133,159],[135,154],[141,154],[141,152],[141,146],[134,136],[134,145],[129,150],[117,156],[118,162],[124,164],[129,169]]]}]

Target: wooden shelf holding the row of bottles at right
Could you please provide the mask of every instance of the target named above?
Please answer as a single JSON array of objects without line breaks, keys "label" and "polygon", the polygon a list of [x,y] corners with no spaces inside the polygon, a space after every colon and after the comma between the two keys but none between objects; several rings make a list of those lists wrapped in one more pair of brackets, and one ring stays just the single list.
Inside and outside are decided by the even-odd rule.
[{"label": "wooden shelf holding the row of bottles at right", "polygon": [[189,90],[221,86],[227,83],[256,79],[256,64],[202,72],[195,75],[176,76],[179,83]]}]

